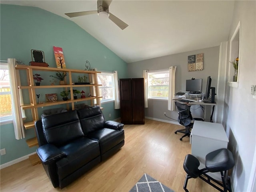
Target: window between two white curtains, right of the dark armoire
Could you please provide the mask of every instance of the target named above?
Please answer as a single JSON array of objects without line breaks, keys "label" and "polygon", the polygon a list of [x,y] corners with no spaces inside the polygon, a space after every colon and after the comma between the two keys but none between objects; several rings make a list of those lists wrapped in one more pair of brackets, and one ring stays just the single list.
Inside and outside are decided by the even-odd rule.
[{"label": "window between two white curtains, right of the dark armoire", "polygon": [[168,99],[169,70],[148,72],[148,98]]}]

